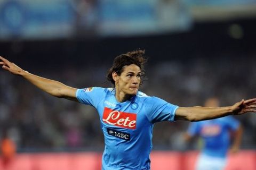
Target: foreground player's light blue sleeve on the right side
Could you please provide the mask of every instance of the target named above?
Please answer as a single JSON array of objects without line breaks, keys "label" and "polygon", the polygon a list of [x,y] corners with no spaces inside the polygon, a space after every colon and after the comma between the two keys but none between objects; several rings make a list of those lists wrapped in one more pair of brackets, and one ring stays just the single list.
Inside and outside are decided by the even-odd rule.
[{"label": "foreground player's light blue sleeve on the right side", "polygon": [[167,103],[158,97],[149,97],[146,101],[147,117],[150,122],[174,121],[178,106]]}]

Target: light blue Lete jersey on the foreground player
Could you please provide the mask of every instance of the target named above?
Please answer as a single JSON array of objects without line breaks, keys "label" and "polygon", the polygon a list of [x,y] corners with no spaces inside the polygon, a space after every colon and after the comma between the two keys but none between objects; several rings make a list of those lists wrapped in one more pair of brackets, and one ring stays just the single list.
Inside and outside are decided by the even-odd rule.
[{"label": "light blue Lete jersey on the foreground player", "polygon": [[178,106],[142,92],[119,103],[113,88],[77,90],[79,102],[95,107],[105,137],[102,169],[150,169],[154,123],[174,121]]}]

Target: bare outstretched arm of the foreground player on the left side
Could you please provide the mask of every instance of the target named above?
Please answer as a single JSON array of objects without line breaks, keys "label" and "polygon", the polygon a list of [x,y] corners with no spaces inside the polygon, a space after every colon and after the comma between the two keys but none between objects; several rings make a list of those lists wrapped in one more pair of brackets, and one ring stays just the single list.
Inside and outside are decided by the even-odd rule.
[{"label": "bare outstretched arm of the foreground player on the left side", "polygon": [[20,75],[39,89],[49,93],[52,96],[78,101],[76,98],[76,88],[66,86],[59,81],[50,80],[31,74],[25,70],[22,70],[19,66],[11,63],[10,61],[6,60],[4,57],[1,56],[0,65],[2,65],[2,68],[4,70],[9,71],[10,73],[15,75]]}]

